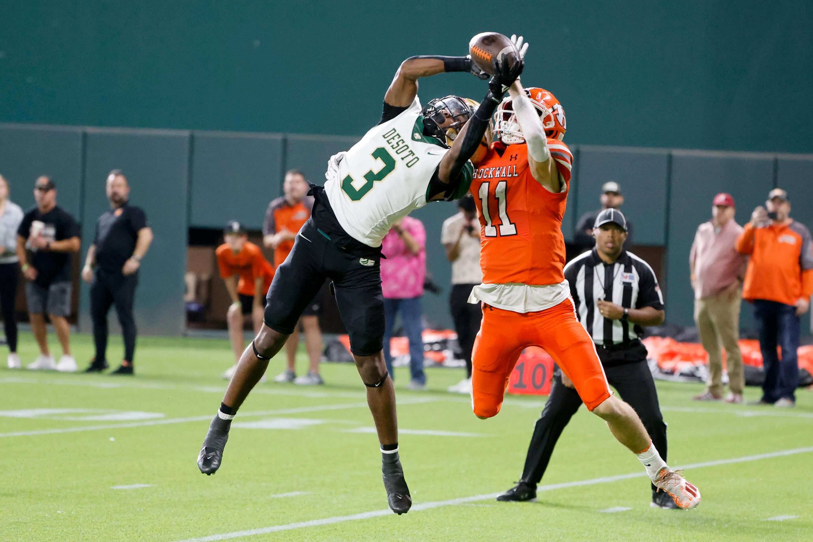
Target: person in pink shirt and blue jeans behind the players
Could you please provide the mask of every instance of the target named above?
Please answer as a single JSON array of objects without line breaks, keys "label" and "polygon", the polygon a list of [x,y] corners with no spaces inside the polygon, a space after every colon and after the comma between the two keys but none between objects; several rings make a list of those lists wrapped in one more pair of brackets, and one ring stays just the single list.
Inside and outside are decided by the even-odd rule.
[{"label": "person in pink shirt and blue jeans behind the players", "polygon": [[384,359],[390,378],[394,379],[393,356],[389,339],[393,336],[395,317],[401,314],[404,332],[409,339],[413,391],[426,388],[424,373],[424,325],[421,322],[420,298],[424,295],[426,277],[426,230],[417,218],[405,216],[393,224],[381,242],[381,289],[384,292]]}]

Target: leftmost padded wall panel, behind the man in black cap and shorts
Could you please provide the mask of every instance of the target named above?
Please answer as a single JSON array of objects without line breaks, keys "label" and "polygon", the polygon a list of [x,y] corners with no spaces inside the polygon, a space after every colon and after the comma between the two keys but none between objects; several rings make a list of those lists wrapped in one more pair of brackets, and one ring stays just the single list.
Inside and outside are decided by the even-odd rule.
[{"label": "leftmost padded wall panel, behind the man in black cap and shorts", "polygon": [[57,203],[80,220],[82,130],[65,126],[0,125],[0,174],[11,184],[11,201],[34,205],[34,181],[50,175]]}]

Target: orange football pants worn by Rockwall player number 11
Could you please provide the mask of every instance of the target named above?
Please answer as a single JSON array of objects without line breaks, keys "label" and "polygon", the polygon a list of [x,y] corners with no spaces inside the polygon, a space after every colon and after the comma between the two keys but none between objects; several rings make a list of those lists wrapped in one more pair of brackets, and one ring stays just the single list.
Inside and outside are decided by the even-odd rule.
[{"label": "orange football pants worn by Rockwall player number 11", "polygon": [[537,313],[515,313],[483,304],[483,321],[472,352],[472,406],[480,417],[496,416],[508,378],[522,351],[544,348],[573,381],[589,410],[612,395],[602,362],[572,299]]}]

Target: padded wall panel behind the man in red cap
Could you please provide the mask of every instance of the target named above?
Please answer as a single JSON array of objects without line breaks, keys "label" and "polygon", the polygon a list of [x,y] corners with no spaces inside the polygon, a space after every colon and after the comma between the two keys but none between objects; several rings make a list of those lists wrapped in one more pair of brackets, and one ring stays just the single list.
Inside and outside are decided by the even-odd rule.
[{"label": "padded wall panel behind the man in red cap", "polygon": [[[719,192],[733,195],[735,220],[744,225],[757,205],[763,205],[773,188],[773,155],[724,154],[703,151],[672,153],[667,238],[667,321],[693,326],[694,294],[689,281],[689,251],[694,233],[711,220],[711,200]],[[743,302],[743,328],[753,328],[750,304]]]}]

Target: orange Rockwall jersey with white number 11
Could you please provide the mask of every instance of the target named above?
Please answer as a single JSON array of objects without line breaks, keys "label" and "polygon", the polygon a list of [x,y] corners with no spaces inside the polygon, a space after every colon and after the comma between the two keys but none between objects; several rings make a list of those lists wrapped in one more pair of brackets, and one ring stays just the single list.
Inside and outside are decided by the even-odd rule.
[{"label": "orange Rockwall jersey with white number 11", "polygon": [[570,189],[573,155],[548,138],[551,157],[565,182],[554,194],[528,168],[528,146],[490,150],[477,164],[472,195],[480,217],[480,267],[485,284],[559,284],[564,280],[562,217]]}]

